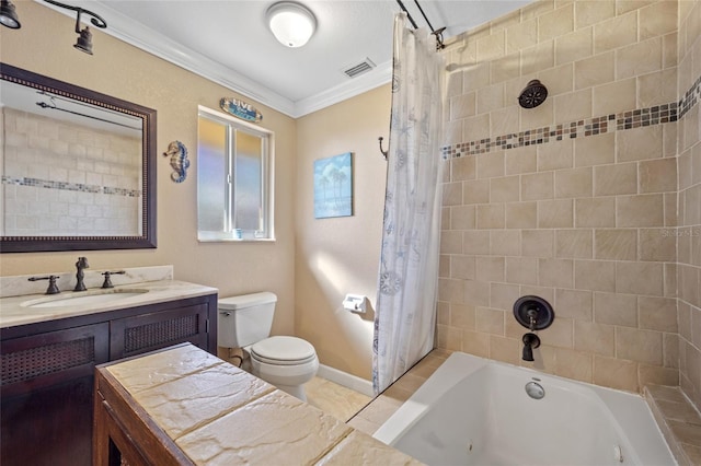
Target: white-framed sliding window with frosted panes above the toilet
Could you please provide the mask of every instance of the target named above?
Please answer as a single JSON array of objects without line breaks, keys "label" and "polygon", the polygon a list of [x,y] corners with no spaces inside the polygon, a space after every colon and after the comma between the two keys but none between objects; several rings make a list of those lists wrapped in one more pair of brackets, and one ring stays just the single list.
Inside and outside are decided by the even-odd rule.
[{"label": "white-framed sliding window with frosted panes above the toilet", "polygon": [[275,240],[273,144],[273,132],[199,107],[199,241]]}]

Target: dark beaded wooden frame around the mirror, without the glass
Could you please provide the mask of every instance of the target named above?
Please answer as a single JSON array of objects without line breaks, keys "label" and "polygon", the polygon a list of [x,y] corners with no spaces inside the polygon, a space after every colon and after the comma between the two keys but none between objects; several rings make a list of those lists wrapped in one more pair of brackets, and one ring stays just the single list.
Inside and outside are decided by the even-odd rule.
[{"label": "dark beaded wooden frame around the mirror, without the glass", "polygon": [[156,110],[111,95],[58,81],[7,63],[0,63],[0,80],[47,91],[62,97],[141,118],[142,219],[136,236],[0,236],[0,253],[49,251],[140,249],[157,247],[157,141]]}]

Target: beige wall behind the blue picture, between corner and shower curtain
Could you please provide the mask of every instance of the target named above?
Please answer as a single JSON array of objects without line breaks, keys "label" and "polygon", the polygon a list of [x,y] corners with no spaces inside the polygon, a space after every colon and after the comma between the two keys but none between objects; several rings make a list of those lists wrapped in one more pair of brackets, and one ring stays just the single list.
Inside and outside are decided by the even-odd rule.
[{"label": "beige wall behind the blue picture, between corner and shower curtain", "polygon": [[[344,311],[346,293],[375,307],[387,162],[377,138],[389,132],[389,84],[297,121],[296,331],[322,364],[369,380],[372,318]],[[313,163],[353,152],[354,214],[314,219]]]}]

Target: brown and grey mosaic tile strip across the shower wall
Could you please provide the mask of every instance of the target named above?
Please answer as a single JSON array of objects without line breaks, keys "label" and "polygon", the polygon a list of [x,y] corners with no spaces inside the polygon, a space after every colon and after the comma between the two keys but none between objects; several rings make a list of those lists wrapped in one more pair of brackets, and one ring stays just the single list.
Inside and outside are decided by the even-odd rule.
[{"label": "brown and grey mosaic tile strip across the shower wall", "polygon": [[686,92],[679,102],[670,102],[664,105],[581,119],[555,126],[545,126],[543,128],[502,135],[495,138],[458,142],[452,145],[443,147],[441,154],[444,159],[453,159],[677,121],[681,119],[699,100],[701,100],[701,77],[697,79],[691,89]]}]

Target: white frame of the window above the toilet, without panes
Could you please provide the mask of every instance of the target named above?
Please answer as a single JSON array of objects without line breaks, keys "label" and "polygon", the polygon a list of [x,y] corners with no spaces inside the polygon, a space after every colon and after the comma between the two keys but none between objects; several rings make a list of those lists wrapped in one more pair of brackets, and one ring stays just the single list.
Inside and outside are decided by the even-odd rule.
[{"label": "white frame of the window above the toilet, without panes", "polygon": [[[260,136],[263,139],[263,163],[262,163],[262,173],[261,173],[261,183],[262,183],[262,207],[264,210],[263,213],[263,223],[264,230],[262,232],[248,233],[244,232],[241,236],[233,228],[232,222],[234,214],[232,214],[231,209],[227,213],[227,219],[225,224],[229,229],[229,231],[221,232],[203,232],[199,231],[199,224],[197,225],[197,241],[203,243],[211,243],[211,242],[274,242],[275,241],[275,132],[265,129],[258,125],[254,125],[249,121],[244,121],[221,112],[212,110],[211,108],[204,107],[198,105],[197,107],[197,121],[199,124],[199,118],[205,117],[211,120],[219,121],[223,125],[229,126],[229,131],[231,128],[241,129],[245,132],[253,133],[255,136]],[[198,125],[199,126],[199,125]],[[199,148],[199,130],[197,131],[197,147]],[[232,158],[231,148],[229,148],[228,156]],[[232,165],[232,164],[231,164]],[[231,166],[229,170],[229,179],[235,179],[233,176],[234,167]],[[197,177],[197,209],[199,210],[199,176]],[[230,185],[233,182],[229,182]],[[233,189],[233,187],[231,187]],[[226,199],[226,202],[229,203],[229,199]],[[199,219],[199,212],[198,212]],[[199,220],[198,220],[199,223]]]}]

